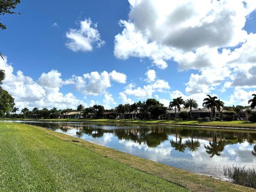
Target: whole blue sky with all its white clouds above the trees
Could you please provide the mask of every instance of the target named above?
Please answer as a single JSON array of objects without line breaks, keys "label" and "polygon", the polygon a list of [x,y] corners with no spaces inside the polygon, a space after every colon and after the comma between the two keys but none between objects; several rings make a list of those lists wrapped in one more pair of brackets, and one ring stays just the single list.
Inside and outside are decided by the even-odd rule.
[{"label": "whole blue sky with all its white clouds above the trees", "polygon": [[1,16],[3,87],[30,108],[111,108],[149,97],[167,105],[179,96],[202,103],[206,94],[245,105],[256,87],[255,7],[250,0],[22,1],[21,15]]}]

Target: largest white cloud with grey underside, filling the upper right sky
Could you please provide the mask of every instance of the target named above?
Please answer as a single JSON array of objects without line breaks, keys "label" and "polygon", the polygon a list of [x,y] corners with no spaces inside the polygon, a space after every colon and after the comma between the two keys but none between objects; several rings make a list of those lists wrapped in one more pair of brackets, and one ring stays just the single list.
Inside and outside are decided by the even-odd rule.
[{"label": "largest white cloud with grey underside, filling the upper right sky", "polygon": [[129,2],[129,19],[120,21],[123,31],[115,36],[117,58],[146,57],[162,69],[173,60],[179,70],[198,70],[186,83],[188,94],[209,93],[221,84],[221,91],[256,86],[256,34],[244,30],[255,1]]}]

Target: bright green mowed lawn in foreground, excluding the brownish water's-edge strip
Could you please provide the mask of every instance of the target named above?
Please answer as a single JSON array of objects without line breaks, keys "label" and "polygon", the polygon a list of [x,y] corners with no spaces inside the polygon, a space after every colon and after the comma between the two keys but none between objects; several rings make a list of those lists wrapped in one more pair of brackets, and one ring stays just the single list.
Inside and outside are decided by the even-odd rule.
[{"label": "bright green mowed lawn in foreground, excluding the brownish water's-edge strip", "polygon": [[189,191],[50,132],[0,123],[0,191]]}]

